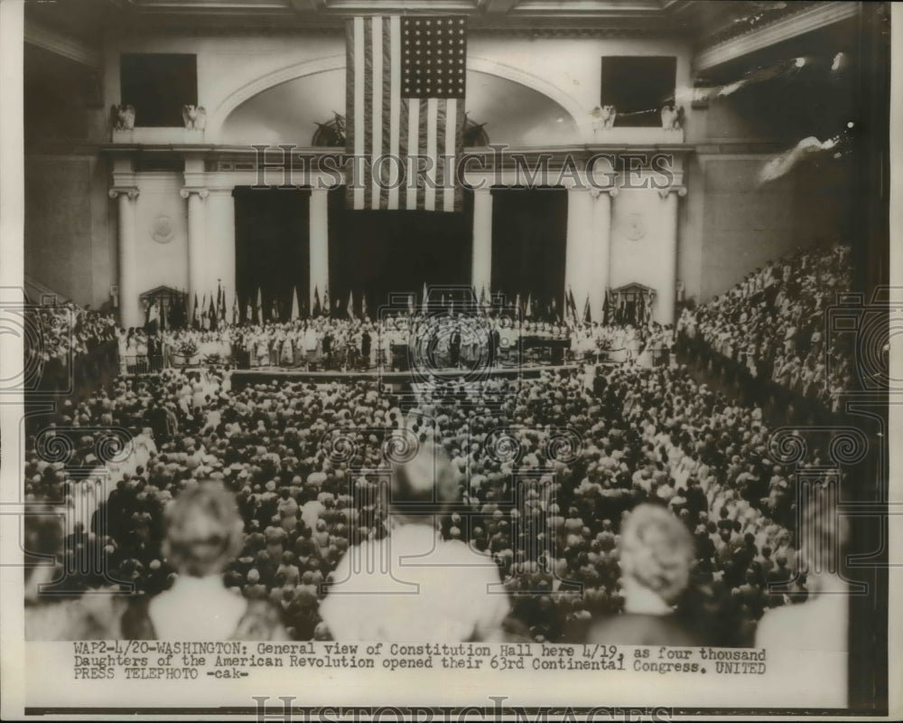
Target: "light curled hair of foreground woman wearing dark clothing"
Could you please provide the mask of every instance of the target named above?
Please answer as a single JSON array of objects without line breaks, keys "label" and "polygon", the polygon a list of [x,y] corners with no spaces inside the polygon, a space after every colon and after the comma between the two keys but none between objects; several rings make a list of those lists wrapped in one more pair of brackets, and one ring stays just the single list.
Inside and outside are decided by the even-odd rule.
[{"label": "light curled hair of foreground woman wearing dark clothing", "polygon": [[639,504],[621,528],[620,567],[669,605],[687,587],[694,542],[684,523],[664,507]]}]

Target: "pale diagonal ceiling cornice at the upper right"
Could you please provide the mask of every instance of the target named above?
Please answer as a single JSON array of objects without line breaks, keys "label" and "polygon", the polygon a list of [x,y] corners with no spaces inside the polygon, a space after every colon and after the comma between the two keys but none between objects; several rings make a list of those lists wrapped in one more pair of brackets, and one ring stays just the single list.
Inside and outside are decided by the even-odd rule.
[{"label": "pale diagonal ceiling cornice at the upper right", "polygon": [[696,72],[711,70],[722,63],[736,60],[750,52],[760,51],[797,35],[811,33],[833,23],[849,20],[859,13],[859,4],[851,2],[819,3],[789,17],[719,42],[696,53],[693,68]]}]

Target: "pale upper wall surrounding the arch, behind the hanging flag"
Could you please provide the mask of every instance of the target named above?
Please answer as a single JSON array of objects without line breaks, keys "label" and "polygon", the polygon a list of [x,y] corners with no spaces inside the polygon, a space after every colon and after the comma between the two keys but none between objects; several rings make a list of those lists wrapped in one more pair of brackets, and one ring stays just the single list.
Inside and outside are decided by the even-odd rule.
[{"label": "pale upper wall surrounding the arch, behind the hanging flag", "polygon": [[[603,55],[675,56],[677,85],[686,86],[690,82],[690,48],[683,41],[530,39],[471,33],[468,42],[469,70],[520,82],[553,99],[576,123],[578,134],[571,139],[573,142],[592,138],[589,114],[600,103]],[[207,109],[209,118],[205,141],[212,143],[220,141],[219,127],[231,110],[277,82],[308,73],[330,72],[333,73],[332,78],[344,84],[343,76],[334,75],[336,70],[344,68],[343,33],[211,33],[208,36],[151,33],[111,36],[107,38],[105,48],[107,106],[120,99],[118,59],[121,52],[196,53],[199,102]],[[137,112],[140,117],[141,109],[137,108]],[[686,108],[686,112],[686,126],[692,134],[695,111]],[[559,142],[566,142],[566,139]]]}]

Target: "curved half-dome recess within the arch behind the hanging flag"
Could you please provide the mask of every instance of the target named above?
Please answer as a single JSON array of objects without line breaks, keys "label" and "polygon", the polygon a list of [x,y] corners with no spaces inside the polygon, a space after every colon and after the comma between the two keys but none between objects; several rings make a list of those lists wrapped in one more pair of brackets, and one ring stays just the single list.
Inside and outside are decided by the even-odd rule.
[{"label": "curved half-dome recess within the arch behind the hanging flag", "polygon": [[[553,99],[485,72],[468,71],[467,111],[486,124],[492,143],[558,146],[578,138],[573,117]],[[310,146],[316,123],[330,120],[333,112],[345,112],[344,70],[287,80],[258,93],[228,116],[220,142]]]}]

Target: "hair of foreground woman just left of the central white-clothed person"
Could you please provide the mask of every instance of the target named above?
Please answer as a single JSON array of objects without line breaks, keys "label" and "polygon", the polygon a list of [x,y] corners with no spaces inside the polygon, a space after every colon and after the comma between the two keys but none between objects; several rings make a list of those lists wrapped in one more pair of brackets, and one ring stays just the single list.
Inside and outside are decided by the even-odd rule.
[{"label": "hair of foreground woman just left of the central white-clothed person", "polygon": [[235,497],[217,482],[180,493],[167,506],[165,522],[163,554],[183,575],[221,572],[244,544],[245,525]]}]

